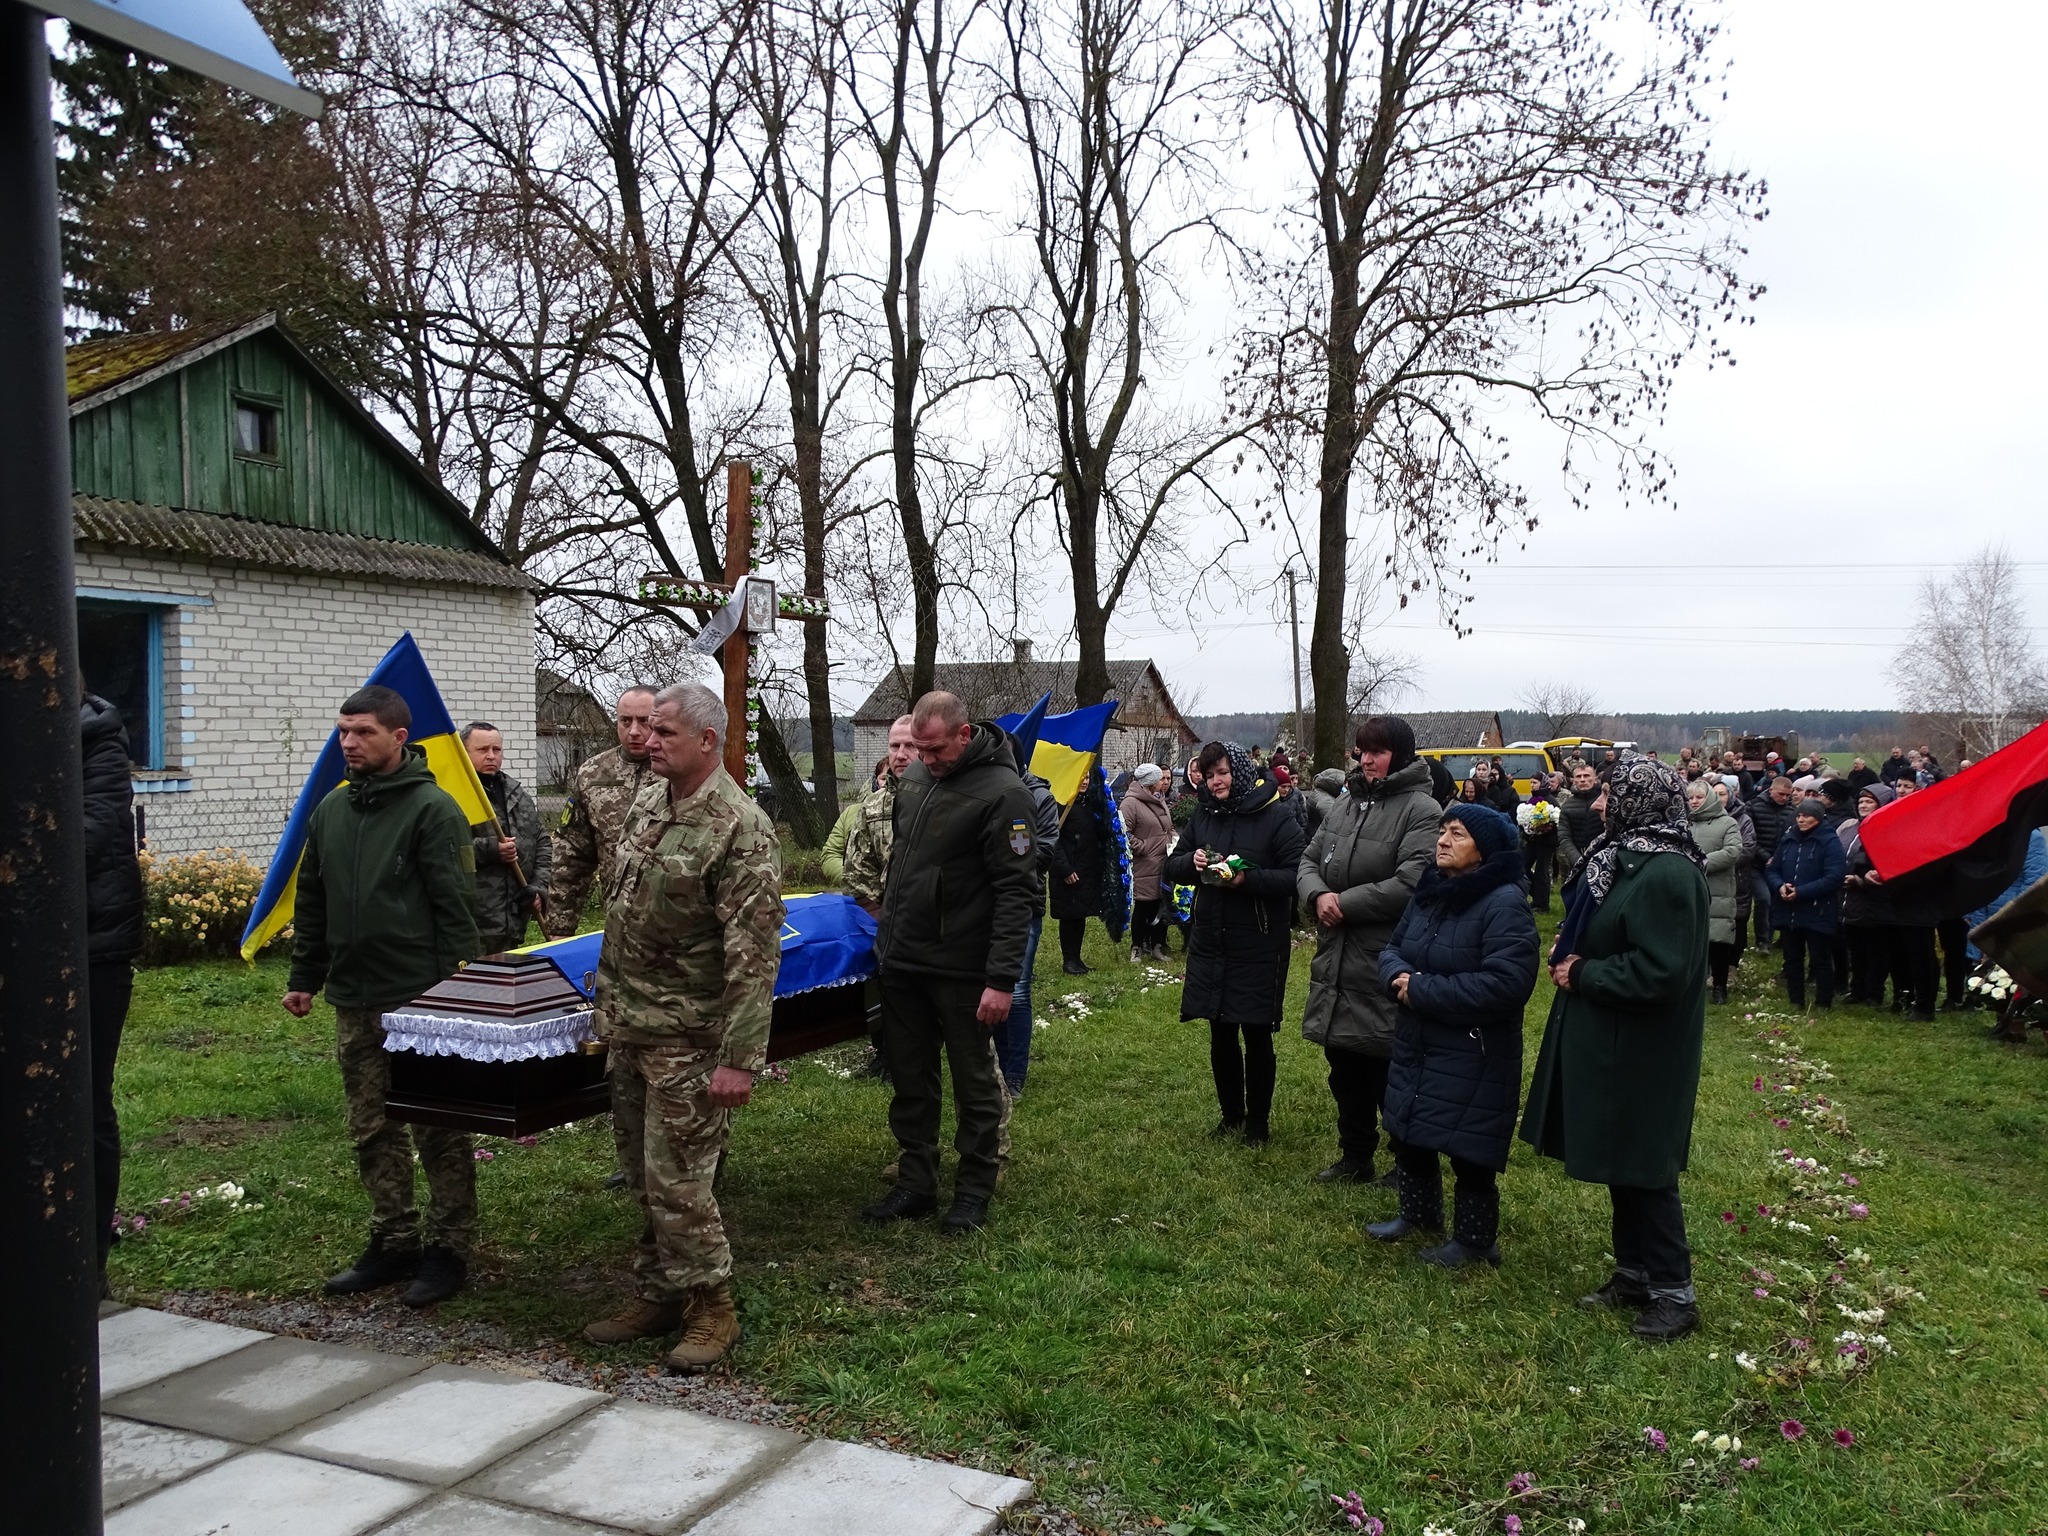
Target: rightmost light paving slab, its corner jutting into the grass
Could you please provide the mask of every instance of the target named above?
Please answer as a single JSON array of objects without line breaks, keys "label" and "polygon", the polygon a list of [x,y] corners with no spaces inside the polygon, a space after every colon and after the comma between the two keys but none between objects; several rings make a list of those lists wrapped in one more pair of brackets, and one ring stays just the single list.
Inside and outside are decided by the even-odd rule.
[{"label": "rightmost light paving slab, its corner jutting into the grass", "polygon": [[813,1440],[690,1536],[987,1536],[1030,1483],[872,1446]]}]

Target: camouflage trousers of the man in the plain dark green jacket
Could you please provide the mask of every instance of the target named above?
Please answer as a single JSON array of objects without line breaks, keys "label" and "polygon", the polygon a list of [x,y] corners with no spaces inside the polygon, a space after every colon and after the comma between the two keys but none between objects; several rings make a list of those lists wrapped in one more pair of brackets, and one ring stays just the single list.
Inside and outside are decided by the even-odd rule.
[{"label": "camouflage trousers of the man in the plain dark green jacket", "polygon": [[[356,1174],[371,1196],[371,1237],[385,1247],[440,1243],[463,1257],[477,1235],[477,1163],[469,1137],[385,1116],[391,1053],[383,1049],[383,1014],[375,1008],[334,1010],[334,1055],[348,1098],[348,1139],[356,1143]],[[412,1161],[426,1171],[426,1231],[414,1206]]]}]

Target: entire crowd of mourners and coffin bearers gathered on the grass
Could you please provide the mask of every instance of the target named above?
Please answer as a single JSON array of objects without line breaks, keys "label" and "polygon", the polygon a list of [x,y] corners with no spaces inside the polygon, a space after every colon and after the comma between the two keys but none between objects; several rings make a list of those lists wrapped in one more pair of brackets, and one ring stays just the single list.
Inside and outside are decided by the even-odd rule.
[{"label": "entire crowd of mourners and coffin bearers gathered on the grass", "polygon": [[[342,702],[348,778],[313,811],[297,877],[283,1006],[305,1016],[326,991],[336,1010],[371,1200],[369,1245],[326,1288],[403,1284],[403,1300],[426,1307],[465,1284],[471,1145],[387,1116],[381,1020],[477,954],[516,944],[530,920],[549,936],[575,932],[596,881],[594,1028],[608,1044],[612,1182],[631,1190],[645,1227],[633,1298],[586,1337],[680,1333],[670,1368],[709,1370],[739,1337],[713,1176],[766,1063],[784,922],[774,825],[723,770],[723,702],[694,684],[629,688],[618,745],[578,770],[547,836],[504,772],[494,725],[463,731],[492,809],[471,825],[410,743],[410,723],[389,688]],[[111,1077],[141,889],[119,719],[88,698],[80,733],[104,1276],[119,1178]],[[1155,963],[1169,934],[1182,936],[1180,1012],[1208,1028],[1212,1137],[1257,1145],[1272,1133],[1276,1036],[1307,928],[1300,1030],[1323,1051],[1337,1141],[1317,1178],[1384,1186],[1399,1202],[1366,1235],[1430,1237],[1419,1255],[1442,1268],[1501,1264],[1499,1176],[1520,1126],[1571,1178],[1608,1186],[1614,1272],[1581,1300],[1632,1309],[1640,1337],[1681,1337],[1698,1307],[1677,1174],[1706,1004],[1726,1001],[1731,969],[1749,950],[1776,952],[1794,1006],[1810,985],[1829,1008],[1845,979],[1849,1001],[1882,1004],[1890,987],[1894,1010],[1931,1018],[1944,975],[1948,1006],[1968,999],[1966,934],[1982,913],[1909,909],[1860,838],[1862,817],[1939,776],[1925,750],[1894,750],[1878,770],[1858,758],[1847,772],[1823,758],[1774,756],[1757,770],[1690,750],[1675,762],[1589,750],[1522,793],[1497,760],[1450,782],[1405,721],[1374,717],[1356,729],[1346,768],[1311,784],[1280,752],[1210,741],[1176,770],[1143,764],[1114,788],[1094,778],[1063,809],[1006,731],[973,721],[952,694],[926,694],[891,727],[870,788],[825,850],[827,877],[877,920],[874,1069],[891,1085],[897,1159],[862,1217],[938,1214],[948,1235],[989,1221],[1030,1065],[1042,924],[1059,924],[1063,969],[1085,973],[1081,940],[1104,911],[1100,872],[1114,852],[1106,795],[1116,795],[1130,958]],[[2044,870],[2036,831],[2013,891]],[[1565,915],[1540,956],[1536,913],[1552,905],[1552,879]],[[1544,971],[1554,997],[1518,1102],[1522,1018]],[[956,1151],[944,1206],[942,1073]]]}]

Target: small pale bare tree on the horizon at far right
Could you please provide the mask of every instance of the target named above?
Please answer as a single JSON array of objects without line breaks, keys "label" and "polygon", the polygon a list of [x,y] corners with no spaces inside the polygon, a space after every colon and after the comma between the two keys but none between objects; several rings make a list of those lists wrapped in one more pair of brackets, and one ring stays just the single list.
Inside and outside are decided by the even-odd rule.
[{"label": "small pale bare tree on the horizon at far right", "polygon": [[1952,721],[1972,758],[2042,723],[2048,672],[2034,645],[2019,565],[2005,545],[1987,545],[1946,575],[1921,582],[1892,666],[1901,702]]}]

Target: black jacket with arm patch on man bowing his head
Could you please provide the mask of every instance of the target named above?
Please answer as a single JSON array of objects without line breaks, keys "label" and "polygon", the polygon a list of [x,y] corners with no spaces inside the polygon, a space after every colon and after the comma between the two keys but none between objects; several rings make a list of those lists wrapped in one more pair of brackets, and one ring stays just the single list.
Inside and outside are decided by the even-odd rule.
[{"label": "black jacket with arm patch on man bowing his head", "polygon": [[944,776],[922,762],[903,770],[874,928],[885,977],[1016,987],[1042,899],[1036,819],[999,725],[977,723]]}]

